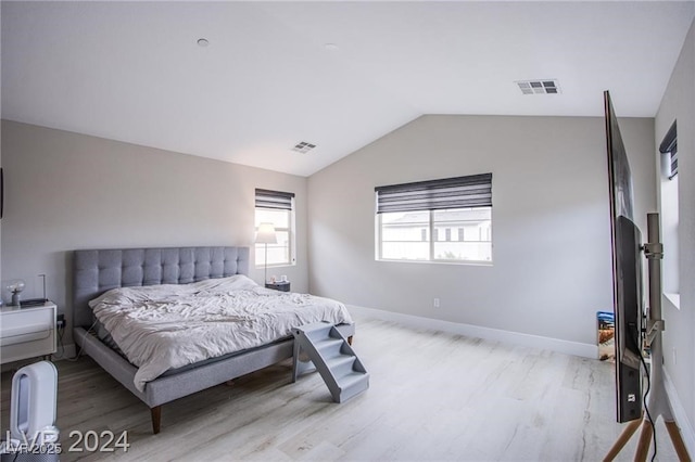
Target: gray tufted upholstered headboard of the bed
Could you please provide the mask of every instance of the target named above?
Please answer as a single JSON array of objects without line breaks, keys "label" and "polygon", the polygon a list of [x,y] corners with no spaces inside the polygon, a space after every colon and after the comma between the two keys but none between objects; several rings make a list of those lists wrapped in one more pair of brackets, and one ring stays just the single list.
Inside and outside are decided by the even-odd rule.
[{"label": "gray tufted upholstered headboard of the bed", "polygon": [[249,273],[249,247],[75,251],[73,326],[89,328],[89,300],[115,287],[187,284]]}]

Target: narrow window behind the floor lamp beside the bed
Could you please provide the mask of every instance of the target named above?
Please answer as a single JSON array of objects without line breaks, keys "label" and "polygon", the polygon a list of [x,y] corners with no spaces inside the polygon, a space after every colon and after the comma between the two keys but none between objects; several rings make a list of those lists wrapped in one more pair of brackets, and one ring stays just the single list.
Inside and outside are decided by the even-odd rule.
[{"label": "narrow window behind the floor lamp beside the bed", "polygon": [[[294,265],[294,193],[256,190],[255,230],[261,223],[273,223],[277,244],[267,244],[268,266]],[[266,244],[256,244],[256,267],[265,264]]]}]

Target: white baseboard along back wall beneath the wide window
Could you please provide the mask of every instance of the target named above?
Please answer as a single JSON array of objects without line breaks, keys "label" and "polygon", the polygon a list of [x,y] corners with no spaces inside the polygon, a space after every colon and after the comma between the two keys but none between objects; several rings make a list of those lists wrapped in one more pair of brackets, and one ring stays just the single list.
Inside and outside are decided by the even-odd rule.
[{"label": "white baseboard along back wall beneath the wide window", "polygon": [[393,321],[400,324],[417,329],[431,329],[434,331],[448,332],[452,334],[466,335],[469,337],[484,338],[488,341],[503,342],[513,345],[520,345],[531,348],[543,348],[566,355],[580,356],[583,358],[598,358],[598,347],[596,345],[580,344],[578,342],[561,341],[559,338],[542,337],[540,335],[521,334],[518,332],[502,331],[500,329],[482,328],[472,324],[462,324],[458,322],[442,321],[440,319],[422,318],[419,316],[403,315],[400,312],[384,311],[374,308],[348,306],[349,310],[356,316],[376,318],[384,321]]}]

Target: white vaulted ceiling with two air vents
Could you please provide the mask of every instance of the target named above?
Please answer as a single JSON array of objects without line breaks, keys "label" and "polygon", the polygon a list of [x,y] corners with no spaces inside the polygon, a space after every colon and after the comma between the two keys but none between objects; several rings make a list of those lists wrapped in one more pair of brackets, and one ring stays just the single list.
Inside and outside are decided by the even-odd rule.
[{"label": "white vaulted ceiling with two air vents", "polygon": [[[619,115],[653,117],[695,14],[694,1],[1,8],[3,118],[301,176],[422,114],[601,116],[610,90]],[[549,79],[555,94],[518,86]]]}]

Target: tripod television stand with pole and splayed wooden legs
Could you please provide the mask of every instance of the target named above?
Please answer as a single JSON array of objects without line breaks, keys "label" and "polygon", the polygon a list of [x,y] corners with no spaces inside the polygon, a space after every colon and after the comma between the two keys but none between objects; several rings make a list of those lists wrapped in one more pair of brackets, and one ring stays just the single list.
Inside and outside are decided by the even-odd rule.
[{"label": "tripod television stand with pole and splayed wooden legs", "polygon": [[[632,435],[642,426],[637,449],[634,454],[635,461],[646,461],[649,452],[649,444],[654,437],[654,425],[659,416],[664,419],[664,424],[671,438],[671,444],[680,461],[690,461],[687,449],[681,437],[681,432],[673,419],[673,411],[664,386],[664,347],[661,345],[661,332],[664,331],[664,320],[661,318],[661,258],[664,258],[662,246],[659,236],[659,214],[647,214],[647,244],[644,245],[644,255],[647,258],[649,275],[649,318],[647,322],[647,342],[652,349],[652,365],[649,367],[649,393],[646,409],[649,415],[642,415],[628,424],[616,442],[604,458],[604,461],[612,461],[622,450]],[[649,420],[649,416],[652,420]]]}]

